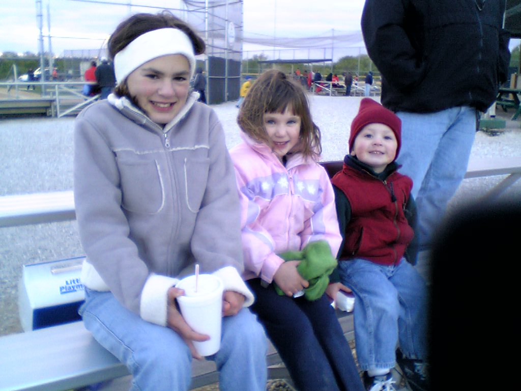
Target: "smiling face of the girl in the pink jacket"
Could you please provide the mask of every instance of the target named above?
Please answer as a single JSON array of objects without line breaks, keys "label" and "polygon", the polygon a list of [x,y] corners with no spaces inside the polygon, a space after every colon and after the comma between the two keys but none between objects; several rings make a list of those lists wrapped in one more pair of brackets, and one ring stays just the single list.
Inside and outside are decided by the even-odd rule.
[{"label": "smiling face of the girl in the pink jacket", "polygon": [[271,140],[272,150],[281,161],[299,143],[301,118],[293,114],[291,107],[287,107],[284,113],[264,114],[264,127]]}]

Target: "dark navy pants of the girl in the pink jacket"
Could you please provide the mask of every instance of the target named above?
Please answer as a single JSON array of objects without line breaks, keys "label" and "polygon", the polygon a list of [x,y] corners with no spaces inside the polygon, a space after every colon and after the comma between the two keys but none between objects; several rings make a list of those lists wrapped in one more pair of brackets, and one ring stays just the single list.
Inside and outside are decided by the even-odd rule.
[{"label": "dark navy pants of the girl in the pink jacket", "polygon": [[264,325],[271,343],[299,391],[362,391],[348,341],[327,296],[309,301],[279,296],[261,279],[247,280],[256,299],[250,309]]}]

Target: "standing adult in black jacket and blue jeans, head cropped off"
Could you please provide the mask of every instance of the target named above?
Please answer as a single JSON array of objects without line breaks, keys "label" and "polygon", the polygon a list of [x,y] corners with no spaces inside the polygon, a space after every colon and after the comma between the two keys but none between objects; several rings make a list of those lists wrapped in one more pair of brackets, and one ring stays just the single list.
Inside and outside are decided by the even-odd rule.
[{"label": "standing adult in black jacket and blue jeans, head cropped off", "polygon": [[383,106],[402,120],[400,172],[413,179],[420,245],[465,175],[478,112],[506,80],[504,1],[367,0],[362,32],[382,75]]}]

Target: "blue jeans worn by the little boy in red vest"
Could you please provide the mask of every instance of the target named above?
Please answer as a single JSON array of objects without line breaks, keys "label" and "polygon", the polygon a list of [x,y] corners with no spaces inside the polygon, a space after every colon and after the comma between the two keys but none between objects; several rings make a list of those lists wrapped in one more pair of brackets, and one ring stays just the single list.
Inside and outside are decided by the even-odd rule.
[{"label": "blue jeans worn by the little boy in red vest", "polygon": [[404,356],[427,356],[427,288],[403,258],[383,266],[365,259],[339,262],[340,280],[355,295],[354,329],[360,369],[391,369]]}]

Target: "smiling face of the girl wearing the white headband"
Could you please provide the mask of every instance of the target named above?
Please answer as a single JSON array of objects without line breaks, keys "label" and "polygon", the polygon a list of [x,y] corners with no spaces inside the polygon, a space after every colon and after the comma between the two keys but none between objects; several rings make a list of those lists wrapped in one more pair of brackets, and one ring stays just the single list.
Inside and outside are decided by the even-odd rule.
[{"label": "smiling face of the girl wearing the white headband", "polygon": [[127,78],[130,95],[156,124],[168,124],[187,102],[190,64],[181,54],[154,58]]}]

